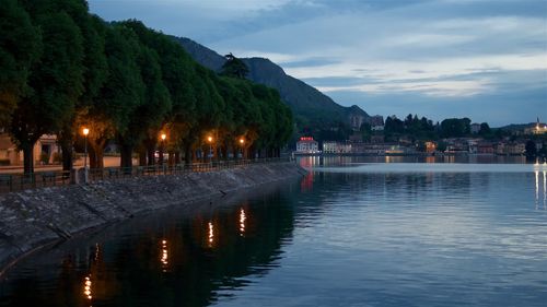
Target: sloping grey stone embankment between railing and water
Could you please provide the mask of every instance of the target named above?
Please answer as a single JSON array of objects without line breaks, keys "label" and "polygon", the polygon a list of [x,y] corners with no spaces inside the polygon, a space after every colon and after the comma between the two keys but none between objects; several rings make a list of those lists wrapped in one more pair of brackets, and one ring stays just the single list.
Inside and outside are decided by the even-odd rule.
[{"label": "sloping grey stone embankment between railing and water", "polygon": [[79,232],[303,174],[294,163],[272,163],[0,194],[0,275],[18,258]]}]

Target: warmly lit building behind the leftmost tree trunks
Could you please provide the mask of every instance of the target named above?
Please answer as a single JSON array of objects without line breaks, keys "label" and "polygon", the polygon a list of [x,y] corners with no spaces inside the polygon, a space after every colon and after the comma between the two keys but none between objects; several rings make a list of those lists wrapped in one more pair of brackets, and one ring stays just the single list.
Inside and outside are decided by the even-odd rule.
[{"label": "warmly lit building behind the leftmost tree trunks", "polygon": [[[54,163],[54,154],[60,153],[57,145],[57,135],[42,135],[34,144],[33,151],[35,165]],[[18,151],[8,133],[0,133],[0,163],[3,165],[23,165],[23,152]]]}]

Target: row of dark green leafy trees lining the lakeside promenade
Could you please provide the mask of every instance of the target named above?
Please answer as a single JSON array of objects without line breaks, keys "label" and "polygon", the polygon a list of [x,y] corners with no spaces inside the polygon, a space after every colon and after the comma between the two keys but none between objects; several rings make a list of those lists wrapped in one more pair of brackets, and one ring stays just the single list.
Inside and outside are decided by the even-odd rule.
[{"label": "row of dark green leafy trees lining the lakeside promenade", "polygon": [[219,156],[241,138],[245,150],[271,156],[292,133],[277,91],[245,80],[232,55],[219,75],[170,36],[135,20],[106,23],[84,0],[0,1],[0,127],[23,150],[25,173],[45,133],[57,134],[70,169],[82,127],[91,167],[103,166],[109,140],[127,167],[133,152],[152,164],[162,132],[176,162],[211,146],[206,135]]}]

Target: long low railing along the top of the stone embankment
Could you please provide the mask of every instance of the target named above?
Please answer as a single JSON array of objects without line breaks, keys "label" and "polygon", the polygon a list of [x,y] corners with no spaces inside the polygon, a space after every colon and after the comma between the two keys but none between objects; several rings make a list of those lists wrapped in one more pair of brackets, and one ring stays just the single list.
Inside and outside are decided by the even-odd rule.
[{"label": "long low railing along the top of the stone embankment", "polygon": [[[188,173],[217,172],[244,167],[251,164],[288,162],[288,158],[230,160],[209,163],[193,163],[177,165],[151,165],[133,167],[105,167],[90,169],[88,180],[115,180],[142,176],[179,175]],[[80,174],[80,175],[78,175]],[[77,181],[73,176],[82,176],[83,172],[36,172],[33,174],[0,174],[0,193],[42,187],[70,185]],[[82,182],[82,180],[80,180]]]}]

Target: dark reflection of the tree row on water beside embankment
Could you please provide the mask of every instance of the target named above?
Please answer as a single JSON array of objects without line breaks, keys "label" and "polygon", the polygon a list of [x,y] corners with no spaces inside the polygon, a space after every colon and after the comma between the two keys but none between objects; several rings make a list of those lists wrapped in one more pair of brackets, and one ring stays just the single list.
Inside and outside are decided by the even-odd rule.
[{"label": "dark reflection of the tree row on water beside embankment", "polygon": [[0,306],[208,306],[278,265],[293,209],[281,192],[265,193],[193,219],[135,219],[90,238],[91,248],[74,241],[30,258],[1,281]]}]

